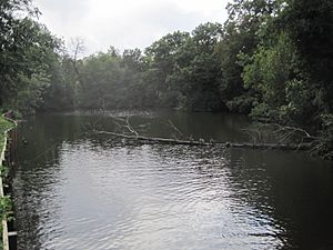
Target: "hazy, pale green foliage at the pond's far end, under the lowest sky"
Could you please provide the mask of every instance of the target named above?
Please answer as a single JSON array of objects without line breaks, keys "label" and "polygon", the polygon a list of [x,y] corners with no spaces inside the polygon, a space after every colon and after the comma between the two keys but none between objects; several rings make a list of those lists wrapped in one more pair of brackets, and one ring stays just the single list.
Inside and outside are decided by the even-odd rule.
[{"label": "hazy, pale green foliage at the pond's far end, under the lowest sky", "polygon": [[[145,108],[154,100],[143,86],[143,59],[140,50],[122,56],[110,50],[82,60],[78,86],[79,109]],[[148,100],[151,99],[151,100]]]}]

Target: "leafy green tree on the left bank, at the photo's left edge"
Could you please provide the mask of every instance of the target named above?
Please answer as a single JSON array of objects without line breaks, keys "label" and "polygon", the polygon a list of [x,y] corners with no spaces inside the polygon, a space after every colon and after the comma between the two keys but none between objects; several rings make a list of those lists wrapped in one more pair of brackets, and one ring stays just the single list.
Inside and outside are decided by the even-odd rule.
[{"label": "leafy green tree on the left bank, at the photo's left edge", "polygon": [[[20,16],[18,14],[20,11]],[[31,17],[30,1],[0,2],[0,107],[34,110],[49,82],[59,40]],[[26,17],[19,18],[26,13]]]}]

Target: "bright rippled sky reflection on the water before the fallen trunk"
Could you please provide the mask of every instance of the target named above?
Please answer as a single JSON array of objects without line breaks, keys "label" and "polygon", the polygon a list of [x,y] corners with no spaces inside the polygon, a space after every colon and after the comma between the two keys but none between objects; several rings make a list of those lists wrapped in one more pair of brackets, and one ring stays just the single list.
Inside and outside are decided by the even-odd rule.
[{"label": "bright rippled sky reflection on the water before the fallen trunk", "polygon": [[283,246],[272,207],[255,207],[260,187],[270,188],[261,171],[232,166],[223,150],[82,141],[63,143],[59,154],[17,173],[21,250]]}]

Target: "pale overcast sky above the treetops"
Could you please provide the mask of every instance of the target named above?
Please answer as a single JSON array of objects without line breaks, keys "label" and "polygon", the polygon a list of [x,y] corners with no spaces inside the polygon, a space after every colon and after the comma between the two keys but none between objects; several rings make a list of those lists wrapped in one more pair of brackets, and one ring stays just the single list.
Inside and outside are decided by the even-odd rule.
[{"label": "pale overcast sky above the treetops", "polygon": [[84,39],[85,53],[143,49],[175,30],[226,20],[230,0],[34,0],[40,21],[67,42]]}]

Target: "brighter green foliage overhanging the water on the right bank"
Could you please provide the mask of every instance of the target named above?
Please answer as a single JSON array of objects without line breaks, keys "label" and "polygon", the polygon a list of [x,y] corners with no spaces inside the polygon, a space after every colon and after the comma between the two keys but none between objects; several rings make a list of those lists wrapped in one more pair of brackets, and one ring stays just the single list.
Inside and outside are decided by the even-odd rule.
[{"label": "brighter green foliage overhanging the water on the right bank", "polygon": [[[254,53],[242,51],[239,53],[239,59],[243,67],[244,86],[254,90],[258,96],[258,103],[252,110],[253,117],[265,117],[283,123],[313,127],[319,124],[321,113],[331,110],[327,100],[330,80],[325,79],[323,72],[321,72],[321,79],[313,77],[313,69],[307,68],[306,64],[317,66],[314,61],[309,63],[307,56],[305,57],[302,52],[303,43],[307,44],[309,39],[306,40],[305,37],[301,39],[297,33],[307,32],[307,28],[316,27],[316,21],[320,21],[319,18],[314,23],[306,24],[304,17],[309,18],[307,11],[315,10],[314,12],[319,13],[323,10],[319,8],[322,7],[321,3],[303,2],[303,7],[309,7],[307,3],[311,6],[303,12],[301,2],[281,1],[271,14],[262,16],[262,22],[255,32],[258,46]],[[276,9],[276,7],[279,8]],[[297,13],[297,11],[302,11],[302,13]],[[291,22],[294,22],[295,26],[291,27]],[[304,24],[307,28],[303,27]],[[294,27],[297,26],[300,26],[299,30],[295,31]],[[326,23],[323,26],[327,27]],[[304,30],[302,31],[302,29]],[[326,31],[327,33],[322,34],[323,37],[331,32]],[[310,33],[307,34],[310,36]],[[310,42],[310,47],[315,42]],[[323,46],[325,47],[325,44]],[[333,61],[332,57],[329,61],[330,63]],[[330,63],[327,62],[327,66]]]}]

